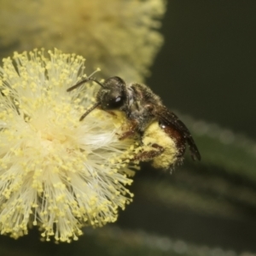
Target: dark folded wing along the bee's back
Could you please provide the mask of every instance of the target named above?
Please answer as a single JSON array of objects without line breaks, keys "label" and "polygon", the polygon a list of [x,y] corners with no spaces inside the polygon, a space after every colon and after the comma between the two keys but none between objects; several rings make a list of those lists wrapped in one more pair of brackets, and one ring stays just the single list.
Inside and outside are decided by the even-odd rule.
[{"label": "dark folded wing along the bee's back", "polygon": [[198,148],[195,145],[195,141],[191,136],[189,129],[183,122],[177,118],[175,113],[172,113],[168,108],[162,106],[158,107],[157,111],[153,111],[153,114],[157,119],[165,123],[166,125],[170,125],[175,130],[179,131],[186,142],[189,144],[189,150],[191,152],[191,156],[193,160],[201,160],[201,154],[199,153]]}]

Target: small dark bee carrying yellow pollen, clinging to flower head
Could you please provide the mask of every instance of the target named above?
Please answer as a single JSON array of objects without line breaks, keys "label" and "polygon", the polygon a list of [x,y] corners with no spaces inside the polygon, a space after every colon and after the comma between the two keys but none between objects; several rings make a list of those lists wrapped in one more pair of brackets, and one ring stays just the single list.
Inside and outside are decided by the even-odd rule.
[{"label": "small dark bee carrying yellow pollen, clinging to flower head", "polygon": [[167,169],[180,163],[186,145],[193,160],[201,160],[201,154],[195,145],[189,129],[161,102],[160,96],[154,94],[144,84],[126,84],[119,77],[111,77],[103,83],[89,77],[68,88],[74,90],[80,85],[93,81],[101,86],[96,93],[96,103],[80,118],[82,121],[95,108],[125,114],[129,125],[119,139],[140,137],[143,150],[135,160],[149,161],[156,168]]}]

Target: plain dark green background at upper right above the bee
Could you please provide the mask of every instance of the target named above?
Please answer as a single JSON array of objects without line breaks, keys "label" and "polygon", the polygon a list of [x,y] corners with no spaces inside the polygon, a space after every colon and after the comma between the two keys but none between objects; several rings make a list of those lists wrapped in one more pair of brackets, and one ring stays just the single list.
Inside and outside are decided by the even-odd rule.
[{"label": "plain dark green background at upper right above the bee", "polygon": [[168,1],[148,84],[166,105],[256,138],[256,1]]}]

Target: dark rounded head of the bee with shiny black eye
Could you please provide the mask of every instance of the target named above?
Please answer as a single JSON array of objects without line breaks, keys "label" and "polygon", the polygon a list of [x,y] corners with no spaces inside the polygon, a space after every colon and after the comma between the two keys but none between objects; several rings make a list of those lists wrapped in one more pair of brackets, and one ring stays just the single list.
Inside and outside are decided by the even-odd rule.
[{"label": "dark rounded head of the bee with shiny black eye", "polygon": [[96,96],[96,101],[104,110],[120,109],[125,105],[126,99],[125,81],[119,77],[107,79]]}]

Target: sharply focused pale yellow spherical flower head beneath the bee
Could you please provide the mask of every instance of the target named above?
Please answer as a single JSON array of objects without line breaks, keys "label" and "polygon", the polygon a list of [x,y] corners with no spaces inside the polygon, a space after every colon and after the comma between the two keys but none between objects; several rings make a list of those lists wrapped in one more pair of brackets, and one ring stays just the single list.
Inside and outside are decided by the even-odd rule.
[{"label": "sharply focused pale yellow spherical flower head beneath the bee", "polygon": [[[47,55],[48,57],[46,57]],[[15,53],[0,67],[0,230],[19,237],[38,225],[49,240],[71,241],[84,225],[114,222],[131,201],[129,162],[137,147],[119,140],[122,119],[100,109],[83,121],[96,84],[84,58],[55,49]]]}]

